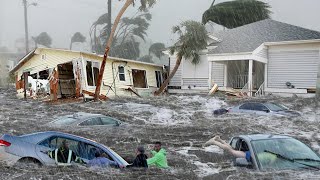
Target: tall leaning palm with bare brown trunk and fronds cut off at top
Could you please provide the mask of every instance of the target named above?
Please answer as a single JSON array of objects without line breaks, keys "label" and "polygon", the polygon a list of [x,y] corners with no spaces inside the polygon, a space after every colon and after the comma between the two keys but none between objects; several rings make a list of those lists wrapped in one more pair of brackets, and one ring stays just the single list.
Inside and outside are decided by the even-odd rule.
[{"label": "tall leaning palm with bare brown trunk and fronds cut off at top", "polygon": [[[152,7],[156,3],[156,0],[140,0],[140,3],[141,3],[141,6],[139,7],[139,10],[146,11],[147,7]],[[135,1],[134,0],[126,0],[125,4],[123,5],[121,10],[119,11],[116,19],[114,20],[114,23],[113,23],[113,26],[112,26],[112,29],[111,29],[111,33],[109,35],[109,39],[107,41],[105,53],[103,55],[101,68],[100,68],[100,71],[99,71],[98,82],[96,84],[96,90],[95,90],[95,95],[94,95],[94,100],[95,101],[98,100],[99,95],[100,95],[100,88],[101,88],[101,82],[102,82],[102,78],[103,78],[104,68],[106,66],[106,61],[107,61],[107,57],[108,57],[108,54],[109,54],[109,51],[110,51],[110,47],[112,45],[114,33],[116,32],[116,29],[118,27],[118,24],[119,24],[119,22],[121,20],[122,15],[124,14],[124,12],[128,9],[128,7],[130,5],[135,5]]]}]

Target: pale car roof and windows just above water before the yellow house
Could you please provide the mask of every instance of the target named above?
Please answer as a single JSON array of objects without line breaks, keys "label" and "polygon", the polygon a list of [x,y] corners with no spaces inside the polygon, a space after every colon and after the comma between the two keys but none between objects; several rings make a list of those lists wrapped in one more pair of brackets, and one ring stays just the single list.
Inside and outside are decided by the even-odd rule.
[{"label": "pale car roof and windows just above water before the yellow house", "polygon": [[74,113],[72,115],[61,116],[48,123],[49,126],[120,126],[122,121],[102,114]]}]

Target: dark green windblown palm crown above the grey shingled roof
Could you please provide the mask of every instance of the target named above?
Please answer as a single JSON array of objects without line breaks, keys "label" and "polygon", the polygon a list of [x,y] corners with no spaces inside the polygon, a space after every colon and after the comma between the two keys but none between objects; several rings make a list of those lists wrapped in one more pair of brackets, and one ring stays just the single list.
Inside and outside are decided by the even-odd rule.
[{"label": "dark green windblown palm crown above the grey shingled roof", "polygon": [[202,15],[202,23],[212,21],[232,29],[270,18],[271,6],[259,0],[233,0],[214,5]]}]

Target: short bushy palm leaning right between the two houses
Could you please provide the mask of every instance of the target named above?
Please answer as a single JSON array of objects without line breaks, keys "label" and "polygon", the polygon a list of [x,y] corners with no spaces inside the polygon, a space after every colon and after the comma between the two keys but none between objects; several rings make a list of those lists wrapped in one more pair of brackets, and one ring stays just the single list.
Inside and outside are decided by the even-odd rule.
[{"label": "short bushy palm leaning right between the two houses", "polygon": [[175,26],[172,28],[173,33],[179,34],[178,41],[174,46],[170,47],[170,54],[176,54],[177,61],[169,74],[169,77],[164,81],[159,90],[154,94],[159,95],[168,86],[170,79],[177,72],[182,58],[190,59],[192,64],[198,64],[200,61],[199,51],[207,47],[207,31],[199,22],[196,21],[185,21],[180,24],[180,26]]}]

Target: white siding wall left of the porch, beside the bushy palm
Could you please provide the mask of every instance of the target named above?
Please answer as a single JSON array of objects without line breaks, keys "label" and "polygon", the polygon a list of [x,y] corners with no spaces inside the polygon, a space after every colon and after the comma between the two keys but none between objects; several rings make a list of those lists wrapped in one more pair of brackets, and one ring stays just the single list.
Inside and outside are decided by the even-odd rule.
[{"label": "white siding wall left of the porch, beside the bushy palm", "polygon": [[198,64],[192,64],[190,60],[183,60],[182,65],[182,89],[190,88],[209,88],[208,74],[209,62],[206,55],[200,56]]}]

